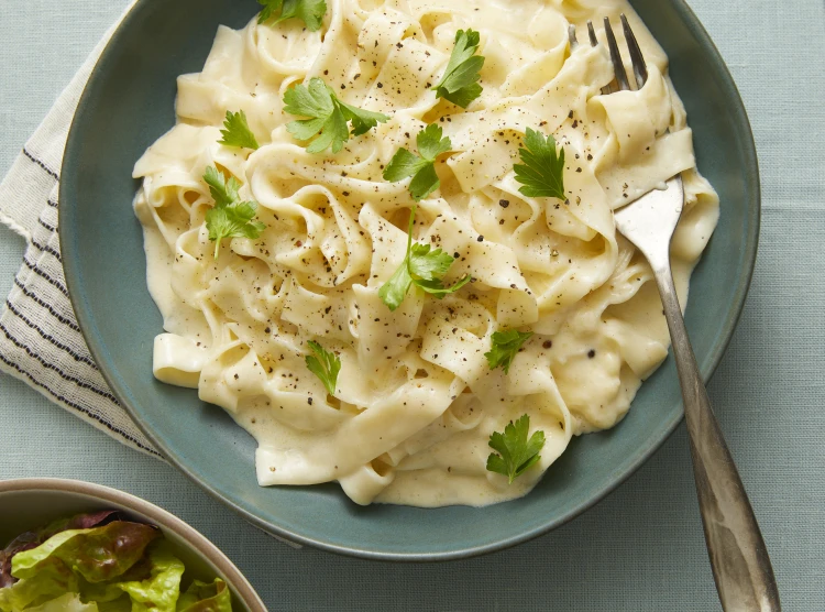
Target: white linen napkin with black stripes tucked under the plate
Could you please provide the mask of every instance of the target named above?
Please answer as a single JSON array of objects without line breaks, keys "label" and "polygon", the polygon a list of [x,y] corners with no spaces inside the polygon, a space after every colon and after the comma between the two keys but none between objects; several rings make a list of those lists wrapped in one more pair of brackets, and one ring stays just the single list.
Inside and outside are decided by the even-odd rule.
[{"label": "white linen napkin with black stripes tucked under the plate", "polygon": [[116,26],[86,59],[0,184],[0,221],[28,242],[0,309],[0,370],[119,441],[160,457],[92,361],[69,303],[61,261],[57,209],[66,136],[89,74]]}]

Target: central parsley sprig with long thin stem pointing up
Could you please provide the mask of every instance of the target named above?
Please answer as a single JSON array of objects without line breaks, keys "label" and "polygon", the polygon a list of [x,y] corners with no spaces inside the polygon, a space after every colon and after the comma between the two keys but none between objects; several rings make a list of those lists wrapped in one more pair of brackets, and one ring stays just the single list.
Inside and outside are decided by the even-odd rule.
[{"label": "central parsley sprig with long thin stem pointing up", "polygon": [[433,251],[429,244],[413,243],[415,218],[416,207],[413,207],[407,232],[407,256],[404,258],[404,262],[395,271],[395,274],[378,289],[378,297],[391,310],[395,310],[402,305],[410,285],[420,287],[426,293],[436,296],[437,299],[443,299],[447,294],[455,293],[472,281],[472,277],[468,275],[451,287],[443,285],[441,276],[447,274],[455,260],[441,249]]}]

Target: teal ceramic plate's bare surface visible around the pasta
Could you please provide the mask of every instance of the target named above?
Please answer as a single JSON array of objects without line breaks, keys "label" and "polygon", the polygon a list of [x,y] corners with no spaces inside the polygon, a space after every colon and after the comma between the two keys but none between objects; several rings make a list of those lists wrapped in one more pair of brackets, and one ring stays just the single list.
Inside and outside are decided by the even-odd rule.
[{"label": "teal ceramic plate's bare surface visible around the pasta", "polygon": [[[734,332],[754,269],[756,151],[736,86],[688,4],[634,4],[670,56],[698,167],[722,197],[722,221],[688,306],[688,328],[707,378]],[[262,489],[254,440],[194,391],[154,380],[152,342],[163,321],[146,289],[132,166],[175,123],[175,78],[202,68],[219,24],[241,28],[257,9],[253,0],[140,0],[80,101],[63,165],[62,248],[80,327],[114,394],[156,447],[204,489],[255,525],[327,550],[398,560],[465,557],[535,537],[596,503],[680,423],[672,361],[647,381],[618,427],[574,440],[526,498],[483,510],[359,507],[337,484]]]}]

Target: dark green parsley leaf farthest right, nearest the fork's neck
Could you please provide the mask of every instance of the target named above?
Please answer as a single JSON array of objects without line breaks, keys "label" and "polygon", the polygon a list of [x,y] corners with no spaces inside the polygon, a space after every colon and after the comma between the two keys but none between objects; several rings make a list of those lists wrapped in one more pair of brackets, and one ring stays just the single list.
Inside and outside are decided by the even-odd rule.
[{"label": "dark green parsley leaf farthest right, nearest the fork's neck", "polygon": [[527,128],[525,138],[527,149],[519,149],[524,164],[516,164],[516,181],[524,187],[519,192],[531,198],[566,199],[564,195],[564,147],[556,151],[556,139],[544,136]]}]

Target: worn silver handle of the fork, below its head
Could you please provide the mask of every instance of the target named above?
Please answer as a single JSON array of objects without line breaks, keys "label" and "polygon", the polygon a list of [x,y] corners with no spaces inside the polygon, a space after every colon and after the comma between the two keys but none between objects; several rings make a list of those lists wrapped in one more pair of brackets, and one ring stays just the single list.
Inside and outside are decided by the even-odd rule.
[{"label": "worn silver handle of the fork, below its head", "polygon": [[670,265],[654,270],[673,345],[698,505],[725,612],[779,612],[768,550],[739,472],[711,408],[679,306]]}]

